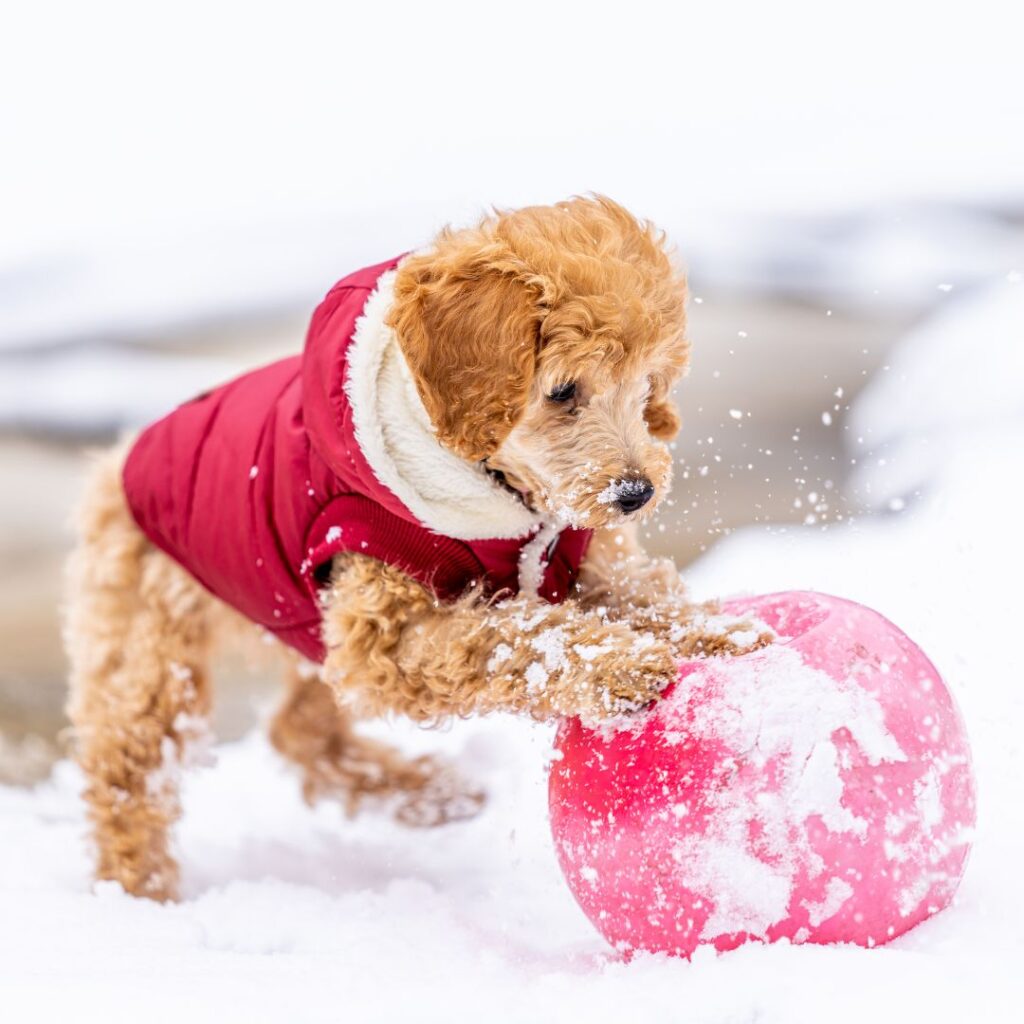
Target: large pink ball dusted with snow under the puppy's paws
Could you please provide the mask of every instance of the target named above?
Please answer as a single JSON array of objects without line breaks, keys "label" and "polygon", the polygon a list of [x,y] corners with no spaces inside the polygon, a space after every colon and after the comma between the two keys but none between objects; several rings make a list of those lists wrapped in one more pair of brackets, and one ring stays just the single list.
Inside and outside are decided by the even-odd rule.
[{"label": "large pink ball dusted with snow under the puppy's paws", "polygon": [[551,826],[624,952],[874,945],[952,899],[975,821],[964,722],[923,651],[852,601],[733,602],[774,644],[690,660],[649,712],[562,723]]}]

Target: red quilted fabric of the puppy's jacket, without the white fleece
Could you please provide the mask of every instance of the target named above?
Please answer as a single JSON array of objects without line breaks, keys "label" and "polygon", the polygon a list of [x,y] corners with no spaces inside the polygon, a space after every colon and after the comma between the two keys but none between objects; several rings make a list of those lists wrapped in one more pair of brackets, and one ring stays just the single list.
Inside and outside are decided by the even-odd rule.
[{"label": "red quilted fabric of the puppy's jacket, without the white fleece", "polygon": [[[355,321],[397,260],[340,281],[317,307],[302,355],[181,406],[128,455],[128,504],[146,537],[211,593],[285,643],[323,660],[317,587],[345,551],[378,558],[443,599],[482,583],[518,589],[529,537],[459,541],[420,524],[374,476],[344,391]],[[589,530],[564,529],[541,595],[560,601]]]}]

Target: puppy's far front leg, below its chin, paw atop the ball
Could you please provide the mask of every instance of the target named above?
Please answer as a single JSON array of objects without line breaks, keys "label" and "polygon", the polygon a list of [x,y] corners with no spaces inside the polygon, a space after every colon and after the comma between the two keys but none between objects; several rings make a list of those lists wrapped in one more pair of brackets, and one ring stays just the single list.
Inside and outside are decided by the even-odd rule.
[{"label": "puppy's far front leg, below its chin, paw atop the ball", "polygon": [[691,601],[675,563],[650,557],[634,524],[594,532],[578,589],[585,606],[663,638],[678,657],[741,654],[771,641],[761,624]]}]

